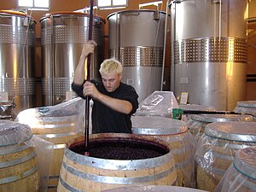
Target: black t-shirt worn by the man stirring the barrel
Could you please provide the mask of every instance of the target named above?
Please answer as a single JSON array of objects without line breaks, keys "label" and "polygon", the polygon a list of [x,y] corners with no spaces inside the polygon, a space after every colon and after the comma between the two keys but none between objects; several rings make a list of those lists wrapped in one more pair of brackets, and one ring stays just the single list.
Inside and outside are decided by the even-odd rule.
[{"label": "black t-shirt worn by the man stirring the barrel", "polygon": [[[93,99],[93,107],[91,113],[92,119],[92,133],[104,133],[104,132],[116,132],[116,133],[131,133],[131,114],[135,113],[138,108],[137,92],[128,84],[120,82],[119,88],[113,92],[108,92],[103,86],[102,82],[95,80],[91,81],[96,85],[97,90],[102,94],[111,96],[116,99],[125,100],[131,102],[131,113],[119,113],[112,108],[102,104]],[[83,96],[83,84],[72,84],[72,89],[78,96]]]}]

